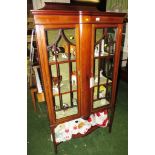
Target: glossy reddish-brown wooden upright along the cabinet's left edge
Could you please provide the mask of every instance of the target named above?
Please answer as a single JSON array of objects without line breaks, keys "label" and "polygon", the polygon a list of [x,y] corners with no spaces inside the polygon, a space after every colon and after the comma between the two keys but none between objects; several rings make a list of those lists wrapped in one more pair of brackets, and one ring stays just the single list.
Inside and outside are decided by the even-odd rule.
[{"label": "glossy reddish-brown wooden upright along the cabinet's left edge", "polygon": [[47,59],[45,32],[44,32],[43,26],[36,25],[36,36],[37,36],[38,54],[39,54],[39,60],[40,60],[40,67],[41,67],[41,73],[42,73],[41,75],[43,79],[48,115],[49,115],[50,123],[54,124],[55,114],[54,114],[54,108],[53,108],[54,106],[53,106],[52,91],[51,91],[52,88],[51,88],[49,67],[48,67],[48,61],[47,61],[48,59]]}]

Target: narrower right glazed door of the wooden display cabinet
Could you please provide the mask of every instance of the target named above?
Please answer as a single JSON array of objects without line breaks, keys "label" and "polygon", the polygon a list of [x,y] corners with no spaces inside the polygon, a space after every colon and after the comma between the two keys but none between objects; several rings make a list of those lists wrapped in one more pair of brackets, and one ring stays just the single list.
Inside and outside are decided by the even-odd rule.
[{"label": "narrower right glazed door of the wooden display cabinet", "polygon": [[[91,98],[92,111],[108,107],[112,101],[113,84],[116,85],[114,70],[118,69],[115,59],[118,55],[118,28],[115,26],[95,25],[94,50],[92,54]],[[117,50],[116,50],[117,46]],[[116,56],[117,54],[117,56]]]}]

